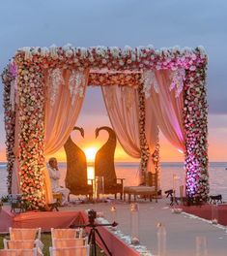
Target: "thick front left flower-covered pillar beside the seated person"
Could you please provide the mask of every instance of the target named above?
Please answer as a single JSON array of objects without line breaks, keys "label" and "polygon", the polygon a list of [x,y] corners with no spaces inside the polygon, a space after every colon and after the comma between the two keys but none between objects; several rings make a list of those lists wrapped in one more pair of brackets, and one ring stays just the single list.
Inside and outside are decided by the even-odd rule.
[{"label": "thick front left flower-covered pillar beside the seated person", "polygon": [[43,208],[44,197],[44,89],[43,69],[38,61],[26,61],[25,54],[15,58],[18,86],[17,155],[20,191],[28,208]]}]

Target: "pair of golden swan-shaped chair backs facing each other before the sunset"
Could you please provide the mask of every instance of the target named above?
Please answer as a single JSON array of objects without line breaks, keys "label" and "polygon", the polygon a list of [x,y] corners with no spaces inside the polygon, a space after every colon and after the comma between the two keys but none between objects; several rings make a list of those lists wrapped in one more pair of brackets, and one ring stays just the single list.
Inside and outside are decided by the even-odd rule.
[{"label": "pair of golden swan-shaped chair backs facing each other before the sunset", "polygon": [[[79,131],[80,135],[84,138],[83,128],[75,126],[73,130]],[[104,177],[104,187],[107,189],[108,187],[117,185],[117,176],[114,167],[114,152],[117,138],[113,129],[107,126],[96,129],[96,138],[99,137],[100,130],[107,131],[109,137],[107,142],[99,148],[96,154],[95,176]],[[71,190],[71,194],[74,195],[91,195],[92,185],[87,184],[87,161],[85,153],[79,146],[73,143],[71,136],[66,144],[64,144],[64,148],[67,155],[66,187],[68,187]],[[114,189],[114,191],[115,190],[116,189]]]}]

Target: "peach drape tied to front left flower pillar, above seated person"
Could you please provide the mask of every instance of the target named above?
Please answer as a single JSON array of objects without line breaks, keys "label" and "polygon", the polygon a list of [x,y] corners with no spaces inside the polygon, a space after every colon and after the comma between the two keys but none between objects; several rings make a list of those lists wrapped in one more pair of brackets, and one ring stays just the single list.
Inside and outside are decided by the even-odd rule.
[{"label": "peach drape tied to front left flower pillar, above seated person", "polygon": [[[64,84],[60,84],[55,95],[54,104],[51,104],[52,95],[47,89],[49,80],[47,75],[45,76],[45,156],[55,153],[67,142],[83,104],[84,97],[79,93],[75,95],[73,101],[71,100],[70,76],[71,73],[69,71],[63,73]],[[83,84],[80,85],[84,87],[85,93],[89,70],[84,71],[83,76]],[[52,200],[52,191],[46,167],[43,169],[43,174],[45,177],[45,196],[47,202],[50,202]]]}]

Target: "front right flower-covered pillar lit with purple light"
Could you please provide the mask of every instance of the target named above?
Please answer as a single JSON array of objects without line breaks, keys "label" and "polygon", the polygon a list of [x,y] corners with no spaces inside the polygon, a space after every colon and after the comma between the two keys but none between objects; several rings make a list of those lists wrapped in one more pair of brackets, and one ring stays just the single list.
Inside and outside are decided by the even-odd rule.
[{"label": "front right flower-covered pillar lit with purple light", "polygon": [[185,192],[192,200],[206,201],[208,174],[207,61],[186,70],[184,82]]}]

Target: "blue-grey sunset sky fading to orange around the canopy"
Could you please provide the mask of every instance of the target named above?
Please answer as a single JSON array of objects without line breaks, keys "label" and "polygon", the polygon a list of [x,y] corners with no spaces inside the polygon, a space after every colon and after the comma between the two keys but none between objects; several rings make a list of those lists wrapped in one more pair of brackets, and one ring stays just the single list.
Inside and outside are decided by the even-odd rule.
[{"label": "blue-grey sunset sky fading to orange around the canopy", "polygon": [[[204,46],[209,54],[209,158],[227,161],[227,1],[226,0],[0,0],[0,71],[17,48],[154,45],[155,48]],[[5,161],[4,113],[0,84],[0,161]],[[98,126],[109,125],[99,88],[89,88],[76,125],[85,138],[73,134],[82,148],[107,140]],[[161,160],[184,156],[160,135]],[[65,159],[64,150],[56,154]],[[118,145],[116,160],[128,158]]]}]

